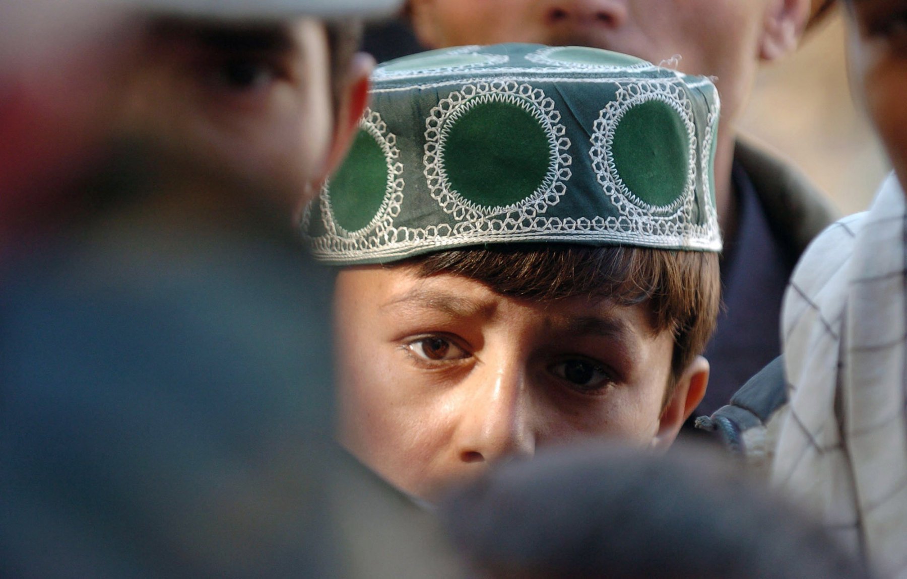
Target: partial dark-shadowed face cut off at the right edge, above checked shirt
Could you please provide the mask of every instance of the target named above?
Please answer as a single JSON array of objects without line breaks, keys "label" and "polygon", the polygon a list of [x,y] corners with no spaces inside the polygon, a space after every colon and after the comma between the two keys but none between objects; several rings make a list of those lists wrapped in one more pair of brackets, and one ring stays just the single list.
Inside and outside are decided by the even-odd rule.
[{"label": "partial dark-shadowed face cut off at the right edge, above checked shirt", "polygon": [[907,0],[850,0],[848,13],[853,81],[907,183]]}]

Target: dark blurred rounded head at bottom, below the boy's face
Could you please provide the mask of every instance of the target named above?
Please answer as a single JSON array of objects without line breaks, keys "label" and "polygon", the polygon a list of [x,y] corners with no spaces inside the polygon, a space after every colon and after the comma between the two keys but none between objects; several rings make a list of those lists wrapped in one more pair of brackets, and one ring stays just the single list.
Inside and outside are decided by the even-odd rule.
[{"label": "dark blurred rounded head at bottom, below the boy's face", "polygon": [[488,577],[866,577],[823,530],[728,468],[579,446],[513,462],[444,502],[456,545]]}]

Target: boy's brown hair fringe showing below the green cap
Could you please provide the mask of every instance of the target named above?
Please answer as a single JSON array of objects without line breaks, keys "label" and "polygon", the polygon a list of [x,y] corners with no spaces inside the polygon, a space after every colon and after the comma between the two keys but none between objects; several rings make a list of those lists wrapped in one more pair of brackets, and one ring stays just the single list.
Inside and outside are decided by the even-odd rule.
[{"label": "boy's brown hair fringe showing below the green cap", "polygon": [[705,350],[721,300],[718,255],[710,252],[533,244],[442,251],[396,265],[414,266],[426,277],[463,275],[520,299],[585,294],[618,305],[648,304],[654,331],[674,336],[666,400],[680,374]]}]

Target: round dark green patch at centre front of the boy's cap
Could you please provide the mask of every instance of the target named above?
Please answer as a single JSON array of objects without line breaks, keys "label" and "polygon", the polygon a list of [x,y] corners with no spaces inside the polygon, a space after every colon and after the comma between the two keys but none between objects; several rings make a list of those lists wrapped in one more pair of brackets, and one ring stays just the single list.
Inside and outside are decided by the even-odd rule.
[{"label": "round dark green patch at centre front of the boy's cap", "polygon": [[518,104],[488,101],[452,121],[444,140],[444,173],[453,190],[480,207],[506,207],[531,197],[551,169],[548,132]]}]

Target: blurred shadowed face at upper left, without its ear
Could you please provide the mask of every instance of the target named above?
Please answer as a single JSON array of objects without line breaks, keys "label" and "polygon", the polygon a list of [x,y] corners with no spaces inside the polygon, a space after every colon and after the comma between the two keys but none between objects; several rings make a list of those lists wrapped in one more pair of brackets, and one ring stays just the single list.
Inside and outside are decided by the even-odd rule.
[{"label": "blurred shadowed face at upper left, without its ear", "polygon": [[[171,19],[152,23],[148,39],[128,130],[211,177],[255,188],[288,216],[307,201],[336,140],[325,25]],[[367,67],[356,72],[367,77]]]}]

